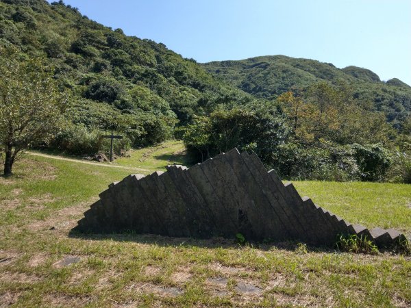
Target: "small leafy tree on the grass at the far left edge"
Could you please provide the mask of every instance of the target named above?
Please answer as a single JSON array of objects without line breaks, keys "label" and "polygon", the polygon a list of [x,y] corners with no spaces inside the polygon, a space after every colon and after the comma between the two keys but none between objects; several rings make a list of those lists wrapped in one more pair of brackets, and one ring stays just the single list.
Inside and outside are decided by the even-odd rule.
[{"label": "small leafy tree on the grass at the far left edge", "polygon": [[8,177],[20,153],[52,136],[66,104],[51,68],[16,49],[0,47],[0,75],[0,149]]}]

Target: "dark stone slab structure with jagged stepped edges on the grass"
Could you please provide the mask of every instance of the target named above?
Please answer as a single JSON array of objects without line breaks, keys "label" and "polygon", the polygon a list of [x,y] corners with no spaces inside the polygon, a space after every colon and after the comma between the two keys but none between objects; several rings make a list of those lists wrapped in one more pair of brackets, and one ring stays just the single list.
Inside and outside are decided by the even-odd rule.
[{"label": "dark stone slab structure with jagged stepped edges on the grass", "polygon": [[393,229],[366,229],[299,196],[292,183],[268,172],[255,153],[232,149],[191,168],[129,175],[99,194],[77,231],[123,230],[172,237],[298,240],[332,245],[340,233],[366,236],[377,246],[406,240]]}]

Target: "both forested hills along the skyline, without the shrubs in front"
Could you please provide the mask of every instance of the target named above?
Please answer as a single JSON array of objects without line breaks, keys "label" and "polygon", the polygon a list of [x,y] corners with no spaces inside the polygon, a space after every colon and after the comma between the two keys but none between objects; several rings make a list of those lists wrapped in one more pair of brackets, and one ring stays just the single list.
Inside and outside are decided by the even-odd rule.
[{"label": "both forested hills along the skyline, without the shrubs in front", "polygon": [[251,101],[249,94],[271,100],[317,81],[347,82],[394,123],[411,110],[411,87],[398,79],[385,84],[365,68],[284,55],[199,65],[164,44],[91,21],[62,1],[0,0],[0,45],[10,44],[47,58],[73,90],[75,125],[104,131],[133,123],[128,135],[135,145],[162,141],[178,121],[190,123],[219,103]]}]

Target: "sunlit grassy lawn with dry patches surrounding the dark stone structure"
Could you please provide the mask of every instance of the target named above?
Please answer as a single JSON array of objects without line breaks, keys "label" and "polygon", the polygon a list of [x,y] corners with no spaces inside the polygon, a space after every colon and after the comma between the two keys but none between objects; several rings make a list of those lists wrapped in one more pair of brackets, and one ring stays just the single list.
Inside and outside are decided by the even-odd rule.
[{"label": "sunlit grassy lawn with dry patches surrounding the dark stone structure", "polygon": [[[409,256],[298,243],[69,235],[108,183],[135,168],[186,164],[183,151],[179,142],[134,151],[116,162],[125,168],[33,155],[16,164],[15,177],[0,178],[0,307],[411,306]],[[295,185],[350,222],[410,236],[411,185]]]}]

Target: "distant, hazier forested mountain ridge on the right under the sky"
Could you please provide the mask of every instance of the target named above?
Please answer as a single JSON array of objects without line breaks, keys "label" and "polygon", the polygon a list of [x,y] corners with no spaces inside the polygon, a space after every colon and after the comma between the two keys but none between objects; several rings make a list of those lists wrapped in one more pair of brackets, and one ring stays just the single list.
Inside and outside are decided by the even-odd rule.
[{"label": "distant, hazier forested mountain ridge on the right under the sky", "polygon": [[254,97],[275,99],[288,90],[304,90],[319,81],[345,82],[360,101],[371,101],[393,125],[411,114],[411,87],[399,79],[383,82],[366,68],[336,68],[331,63],[284,55],[202,64],[210,73]]}]

